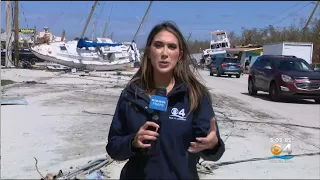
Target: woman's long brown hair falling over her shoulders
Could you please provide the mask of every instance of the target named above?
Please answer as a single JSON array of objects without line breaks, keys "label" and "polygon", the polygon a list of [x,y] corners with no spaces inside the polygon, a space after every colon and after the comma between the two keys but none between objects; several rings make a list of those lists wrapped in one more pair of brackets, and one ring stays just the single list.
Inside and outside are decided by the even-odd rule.
[{"label": "woman's long brown hair falling over her shoulders", "polygon": [[[176,67],[173,70],[173,76],[175,79],[183,81],[188,86],[188,93],[190,99],[188,114],[191,111],[194,111],[198,108],[199,103],[202,101],[202,98],[204,96],[208,98],[211,104],[211,95],[208,89],[203,84],[201,84],[200,81],[196,78],[196,74],[198,77],[200,76],[194,64],[191,62],[191,56],[187,47],[187,43],[178,27],[170,21],[165,21],[160,24],[157,24],[151,30],[144,49],[142,64],[129,83],[136,83],[147,93],[151,93],[152,90],[154,90],[155,85],[153,81],[153,67],[150,62],[150,59],[148,59],[148,55],[154,37],[162,30],[171,32],[177,37],[179,41],[179,49],[182,53],[182,56],[181,60],[177,63]],[[193,70],[191,70],[190,64],[192,64]]]}]

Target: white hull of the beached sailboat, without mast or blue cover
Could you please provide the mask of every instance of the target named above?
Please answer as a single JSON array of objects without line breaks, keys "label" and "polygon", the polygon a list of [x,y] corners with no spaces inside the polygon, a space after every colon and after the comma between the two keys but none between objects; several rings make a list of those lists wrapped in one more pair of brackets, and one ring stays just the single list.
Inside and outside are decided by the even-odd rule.
[{"label": "white hull of the beached sailboat, without mast or blue cover", "polygon": [[[65,46],[67,50],[61,50],[60,47]],[[122,47],[123,48],[123,47]],[[112,49],[107,54],[117,53],[113,59],[104,59],[98,52],[90,48],[77,49],[76,43],[70,42],[54,42],[41,44],[31,48],[31,52],[40,59],[48,62],[57,63],[77,69],[87,69],[96,71],[110,71],[120,69],[124,66],[132,66],[133,61],[130,55],[121,49]]]}]

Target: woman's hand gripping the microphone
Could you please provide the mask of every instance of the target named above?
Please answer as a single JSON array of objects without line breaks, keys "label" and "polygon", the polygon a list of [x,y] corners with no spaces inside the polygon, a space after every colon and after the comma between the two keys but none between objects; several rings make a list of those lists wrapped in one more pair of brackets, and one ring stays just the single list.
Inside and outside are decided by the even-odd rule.
[{"label": "woman's hand gripping the microphone", "polygon": [[[156,131],[147,130],[149,126],[156,128]],[[151,144],[144,144],[145,140],[156,140],[159,134],[157,133],[159,129],[159,125],[152,121],[147,121],[143,126],[140,127],[136,136],[132,141],[132,145],[136,148],[147,148],[150,147]]]}]

